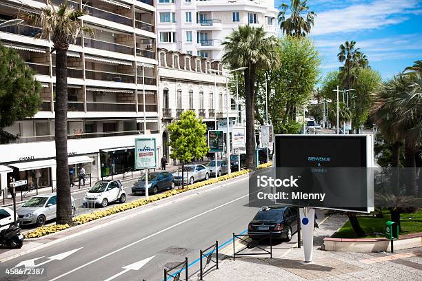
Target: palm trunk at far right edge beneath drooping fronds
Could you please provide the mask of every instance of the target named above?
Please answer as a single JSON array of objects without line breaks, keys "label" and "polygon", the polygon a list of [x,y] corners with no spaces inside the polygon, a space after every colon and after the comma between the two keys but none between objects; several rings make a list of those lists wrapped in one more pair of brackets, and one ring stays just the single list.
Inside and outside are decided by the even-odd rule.
[{"label": "palm trunk at far right edge beneath drooping fronds", "polygon": [[416,143],[413,136],[405,133],[405,174],[406,174],[406,195],[416,196]]}]

